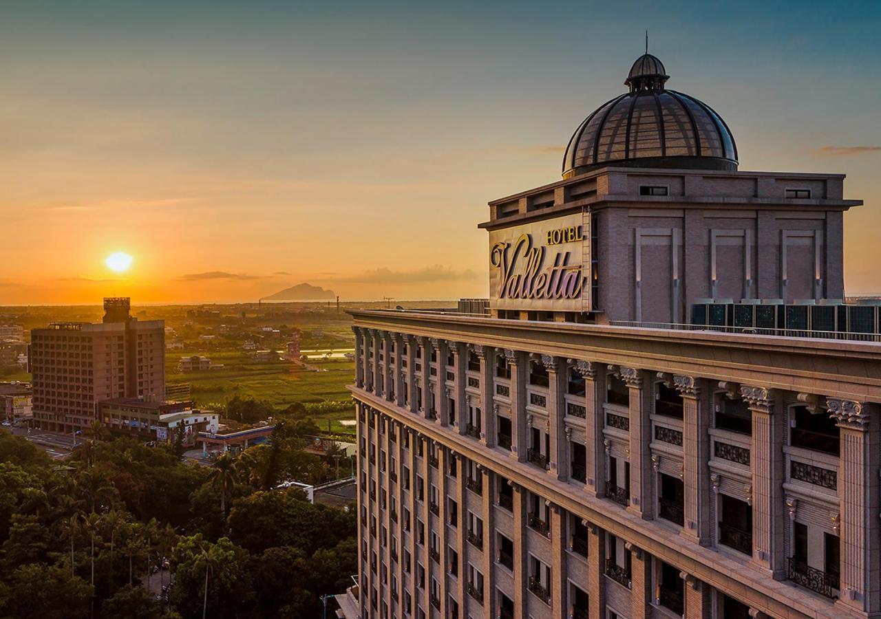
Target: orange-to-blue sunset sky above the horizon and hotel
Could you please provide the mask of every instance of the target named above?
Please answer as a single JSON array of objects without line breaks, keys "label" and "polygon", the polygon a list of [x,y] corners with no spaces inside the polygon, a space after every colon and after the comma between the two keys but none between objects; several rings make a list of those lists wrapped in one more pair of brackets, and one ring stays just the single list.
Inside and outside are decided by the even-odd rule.
[{"label": "orange-to-blue sunset sky above the horizon and hotel", "polygon": [[[581,5],[94,4],[17,4],[0,24],[0,305],[300,282],[485,296],[486,202],[559,179],[644,26]],[[881,292],[877,14],[725,10],[645,9],[670,87],[722,114],[741,169],[848,173],[866,205],[845,217],[847,290]],[[115,251],[135,257],[122,278]]]}]

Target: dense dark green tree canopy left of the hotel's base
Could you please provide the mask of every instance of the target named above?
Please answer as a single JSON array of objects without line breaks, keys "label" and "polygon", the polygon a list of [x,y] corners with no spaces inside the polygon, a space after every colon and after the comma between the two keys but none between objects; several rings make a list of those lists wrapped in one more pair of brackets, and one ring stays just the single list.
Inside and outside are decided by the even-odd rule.
[{"label": "dense dark green tree canopy left of the hotel's base", "polygon": [[[279,424],[217,467],[125,438],[59,465],[0,431],[0,618],[317,616],[357,548],[354,510],[276,488],[329,475],[302,450],[314,429]],[[154,567],[163,557],[170,569]]]}]

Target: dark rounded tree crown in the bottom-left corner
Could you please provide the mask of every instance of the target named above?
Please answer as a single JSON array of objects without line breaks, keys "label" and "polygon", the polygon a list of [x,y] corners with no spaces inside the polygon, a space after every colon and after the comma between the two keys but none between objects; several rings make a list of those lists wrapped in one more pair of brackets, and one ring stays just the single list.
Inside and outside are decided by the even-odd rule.
[{"label": "dark rounded tree crown in the bottom-left corner", "polygon": [[12,572],[4,615],[20,619],[85,619],[93,588],[60,567],[26,564]]}]

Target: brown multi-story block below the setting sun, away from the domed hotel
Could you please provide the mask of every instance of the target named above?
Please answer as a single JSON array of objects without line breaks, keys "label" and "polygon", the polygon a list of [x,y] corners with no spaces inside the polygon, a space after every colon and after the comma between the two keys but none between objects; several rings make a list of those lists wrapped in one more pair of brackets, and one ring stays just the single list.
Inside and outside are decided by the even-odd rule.
[{"label": "brown multi-story block below the setting sun, away from the domed hotel", "polygon": [[33,421],[72,432],[98,419],[98,402],[165,397],[164,321],[138,321],[128,298],[105,298],[100,323],[55,322],[31,331]]}]

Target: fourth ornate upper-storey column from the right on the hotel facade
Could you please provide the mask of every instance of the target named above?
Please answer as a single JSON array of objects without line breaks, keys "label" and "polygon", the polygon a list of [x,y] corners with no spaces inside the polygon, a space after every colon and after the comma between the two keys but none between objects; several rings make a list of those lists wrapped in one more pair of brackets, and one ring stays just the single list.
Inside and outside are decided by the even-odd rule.
[{"label": "fourth ornate upper-storey column from the right on the hotel facade", "polygon": [[633,367],[621,367],[618,371],[630,391],[630,505],[627,509],[645,520],[652,520],[655,515],[652,500],[654,472],[648,448],[652,390],[644,372]]}]

